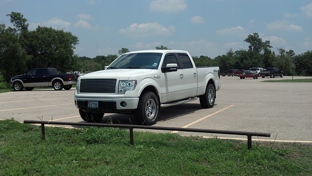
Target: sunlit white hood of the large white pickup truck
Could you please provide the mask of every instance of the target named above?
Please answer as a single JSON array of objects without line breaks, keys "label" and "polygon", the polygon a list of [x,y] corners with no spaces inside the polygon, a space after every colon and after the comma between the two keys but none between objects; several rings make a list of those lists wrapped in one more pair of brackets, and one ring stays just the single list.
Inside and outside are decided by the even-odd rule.
[{"label": "sunlit white hood of the large white pickup truck", "polygon": [[131,76],[144,75],[151,71],[152,69],[109,69],[91,72],[78,78],[129,78]]}]

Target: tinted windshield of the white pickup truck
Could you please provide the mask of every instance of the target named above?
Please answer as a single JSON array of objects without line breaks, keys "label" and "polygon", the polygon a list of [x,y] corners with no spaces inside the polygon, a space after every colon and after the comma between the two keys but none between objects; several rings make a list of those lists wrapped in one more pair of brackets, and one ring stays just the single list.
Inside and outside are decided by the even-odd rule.
[{"label": "tinted windshield of the white pickup truck", "polygon": [[129,53],[115,59],[107,69],[158,69],[162,53]]}]

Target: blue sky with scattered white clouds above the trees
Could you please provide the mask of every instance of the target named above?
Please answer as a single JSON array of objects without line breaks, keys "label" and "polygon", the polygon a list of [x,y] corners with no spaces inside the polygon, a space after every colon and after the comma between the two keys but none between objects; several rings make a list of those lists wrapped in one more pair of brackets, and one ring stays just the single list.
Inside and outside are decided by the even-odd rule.
[{"label": "blue sky with scattered white clouds above the trees", "polygon": [[0,23],[20,12],[29,23],[71,32],[80,57],[170,49],[214,59],[247,50],[244,39],[258,33],[271,50],[312,50],[312,0],[0,0]]}]

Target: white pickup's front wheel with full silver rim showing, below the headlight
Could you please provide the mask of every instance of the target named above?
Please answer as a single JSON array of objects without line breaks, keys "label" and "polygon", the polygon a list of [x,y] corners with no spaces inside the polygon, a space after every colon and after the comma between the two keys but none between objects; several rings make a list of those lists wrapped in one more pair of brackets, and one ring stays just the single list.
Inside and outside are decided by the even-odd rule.
[{"label": "white pickup's front wheel with full silver rim showing, below the headlight", "polygon": [[138,102],[134,117],[139,125],[153,125],[159,113],[159,102],[154,92],[144,93]]}]

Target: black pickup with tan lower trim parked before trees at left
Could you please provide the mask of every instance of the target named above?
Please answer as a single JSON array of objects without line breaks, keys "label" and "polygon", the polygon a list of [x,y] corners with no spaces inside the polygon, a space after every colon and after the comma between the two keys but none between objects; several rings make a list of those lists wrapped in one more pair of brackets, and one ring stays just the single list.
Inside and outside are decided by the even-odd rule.
[{"label": "black pickup with tan lower trim parked before trees at left", "polygon": [[53,87],[54,90],[69,90],[73,86],[71,74],[58,74],[56,68],[35,68],[23,75],[12,77],[10,86],[14,91],[25,88],[31,91],[34,87]]}]

